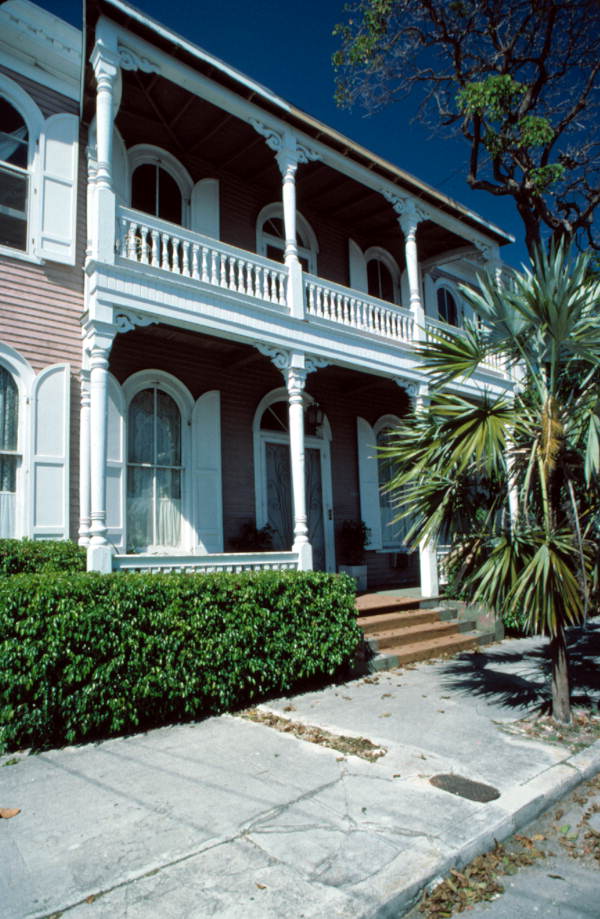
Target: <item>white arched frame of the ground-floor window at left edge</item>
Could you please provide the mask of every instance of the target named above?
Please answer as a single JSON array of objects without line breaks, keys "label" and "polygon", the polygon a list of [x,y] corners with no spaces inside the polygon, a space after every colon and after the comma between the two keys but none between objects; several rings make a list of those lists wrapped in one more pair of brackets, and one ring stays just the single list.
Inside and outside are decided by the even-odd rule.
[{"label": "white arched frame of the ground-floor window at left edge", "polygon": [[[12,250],[11,250],[12,251]],[[13,378],[18,394],[18,425],[17,425],[17,475],[15,498],[15,537],[30,536],[29,530],[29,502],[27,496],[28,475],[31,466],[31,439],[30,439],[30,395],[35,380],[33,368],[10,345],[0,342],[0,365]]]}]

